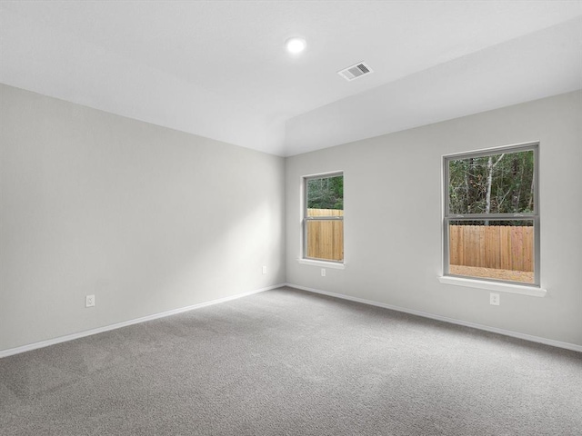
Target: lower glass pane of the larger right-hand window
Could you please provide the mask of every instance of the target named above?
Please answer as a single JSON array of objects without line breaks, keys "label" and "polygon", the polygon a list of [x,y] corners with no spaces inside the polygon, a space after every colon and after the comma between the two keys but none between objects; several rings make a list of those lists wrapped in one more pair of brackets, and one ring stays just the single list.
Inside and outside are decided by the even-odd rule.
[{"label": "lower glass pane of the larger right-hand window", "polygon": [[534,283],[534,222],[450,221],[449,273]]}]

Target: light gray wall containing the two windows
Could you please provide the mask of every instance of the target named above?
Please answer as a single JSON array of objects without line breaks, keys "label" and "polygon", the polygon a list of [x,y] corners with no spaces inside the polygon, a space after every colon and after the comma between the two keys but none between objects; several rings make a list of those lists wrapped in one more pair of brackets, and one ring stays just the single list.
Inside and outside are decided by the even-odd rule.
[{"label": "light gray wall containing the two windows", "polygon": [[[286,159],[291,284],[582,345],[582,93],[339,145]],[[441,156],[540,141],[544,298],[441,284]],[[346,269],[296,262],[301,176],[343,170]]]}]

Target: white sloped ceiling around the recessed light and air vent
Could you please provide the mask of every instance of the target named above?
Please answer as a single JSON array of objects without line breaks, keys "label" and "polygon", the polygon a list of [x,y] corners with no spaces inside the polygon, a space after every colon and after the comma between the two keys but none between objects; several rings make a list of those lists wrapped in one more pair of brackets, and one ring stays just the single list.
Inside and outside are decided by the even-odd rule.
[{"label": "white sloped ceiling around the recessed light and air vent", "polygon": [[0,44],[1,83],[279,155],[582,88],[580,0],[2,1]]}]

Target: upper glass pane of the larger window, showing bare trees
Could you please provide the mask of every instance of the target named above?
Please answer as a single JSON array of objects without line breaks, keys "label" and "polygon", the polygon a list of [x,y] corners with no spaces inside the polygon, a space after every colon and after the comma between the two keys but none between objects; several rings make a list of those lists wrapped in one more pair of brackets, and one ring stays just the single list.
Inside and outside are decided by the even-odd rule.
[{"label": "upper glass pane of the larger window, showing bare trees", "polygon": [[448,161],[449,213],[532,213],[534,152]]}]

